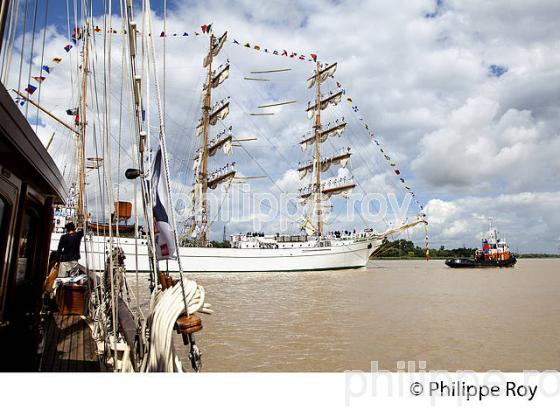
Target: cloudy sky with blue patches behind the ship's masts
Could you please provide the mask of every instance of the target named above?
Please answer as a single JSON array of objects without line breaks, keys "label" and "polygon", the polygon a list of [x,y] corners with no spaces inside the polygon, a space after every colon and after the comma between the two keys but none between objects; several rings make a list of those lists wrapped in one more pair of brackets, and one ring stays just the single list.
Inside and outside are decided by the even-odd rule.
[{"label": "cloudy sky with blue patches behind the ship's masts", "polygon": [[[63,61],[43,82],[41,101],[64,116],[77,97],[72,92],[76,78],[70,73],[77,64],[78,51],[61,52],[68,43],[66,2],[50,3],[54,4],[47,18],[44,58],[60,56]],[[152,8],[153,32],[159,35],[164,25],[163,2],[153,1]],[[39,8],[32,67],[40,66],[43,54],[38,46],[44,26],[41,11]],[[119,4],[114,2],[112,26],[120,27],[119,13]],[[94,24],[103,27],[102,7],[94,9],[94,16]],[[309,157],[309,150],[302,153],[298,141],[311,129],[304,111],[313,95],[305,80],[314,66],[308,61],[234,45],[233,39],[270,50],[316,53],[321,61],[338,62],[335,79],[327,81],[325,92],[336,90],[335,82],[340,82],[345,98],[352,98],[359,113],[345,103],[325,112],[326,122],[342,116],[348,120],[345,134],[325,144],[325,152],[351,146],[354,154],[349,170],[360,185],[355,194],[394,194],[402,202],[404,192],[398,177],[357,120],[363,118],[424,205],[431,246],[477,246],[492,218],[514,250],[557,253],[559,17],[560,3],[543,0],[170,0],[165,24],[168,35],[200,32],[204,23],[212,23],[218,35],[228,31],[230,42],[224,46],[218,63],[225,64],[229,59],[231,75],[215,94],[217,99],[230,96],[232,109],[214,133],[231,125],[236,138],[255,137],[257,141],[234,147],[231,158],[216,155],[210,167],[235,161],[238,175],[266,176],[252,180],[250,192],[278,197],[295,194],[301,186],[294,167]],[[21,33],[18,32],[10,66],[8,86],[13,88],[18,83],[20,88],[26,84],[26,69],[23,81],[18,81]],[[111,43],[111,75],[107,81],[111,103],[107,109],[111,113],[111,176],[113,183],[119,183],[124,198],[132,195],[130,183],[127,185],[120,177],[122,169],[130,165],[131,149],[115,147],[117,141],[125,147],[131,141],[130,103],[126,88],[121,87],[122,41],[117,37]],[[24,47],[24,68],[29,67],[30,38],[28,35]],[[96,49],[103,50],[103,40],[103,36],[96,36]],[[165,124],[179,219],[184,216],[182,208],[188,203],[192,181],[190,161],[196,144],[194,127],[200,117],[202,59],[207,41],[205,36],[192,35],[166,38],[163,76],[164,43],[154,38],[160,85],[165,83]],[[103,51],[97,53],[95,71],[103,87]],[[251,71],[284,68],[291,71],[267,75],[269,82],[243,79],[251,76]],[[153,86],[150,93],[155,95]],[[102,91],[98,90],[98,94]],[[258,111],[260,104],[287,100],[297,103],[275,109],[273,116],[249,115]],[[153,134],[157,135],[153,97],[152,101],[149,117]],[[95,101],[90,104],[93,106]],[[30,122],[38,122],[37,131],[43,141],[56,133],[49,152],[61,170],[66,168],[70,173],[74,159],[69,136],[64,136],[61,127],[52,121],[37,118],[33,110],[29,112]],[[95,121],[102,123],[102,119],[92,120],[90,128]],[[91,143],[89,147],[94,148]],[[347,171],[330,172],[328,176],[337,177]],[[93,186],[96,176],[91,174],[88,178]],[[234,192],[227,194],[219,191],[214,204],[214,209],[221,211],[249,208],[241,214],[233,212],[226,223],[228,233],[250,230],[249,226],[259,218],[265,221],[263,230],[281,229],[277,219],[270,218],[269,210],[252,209],[241,203],[235,192],[244,189],[248,188],[234,186]],[[98,199],[98,195],[91,194],[92,204]],[[333,200],[333,205],[333,229],[369,226],[367,221],[348,213],[344,200]],[[285,211],[292,222],[297,215],[295,208],[292,201]],[[409,216],[417,211],[411,206]],[[219,221],[213,225],[215,237],[221,236],[223,225]],[[287,229],[297,229],[296,226],[293,222]],[[424,231],[413,230],[404,237],[422,245]]]}]

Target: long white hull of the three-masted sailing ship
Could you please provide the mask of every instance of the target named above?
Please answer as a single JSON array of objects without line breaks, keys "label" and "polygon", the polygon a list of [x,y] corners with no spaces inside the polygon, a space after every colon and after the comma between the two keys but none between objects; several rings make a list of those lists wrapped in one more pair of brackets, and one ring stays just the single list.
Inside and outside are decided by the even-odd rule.
[{"label": "long white hull of the three-masted sailing ship", "polygon": [[[61,234],[54,233],[51,250],[56,250]],[[101,271],[106,259],[108,239],[102,236],[84,238],[80,263],[86,264],[84,242],[87,241],[87,265]],[[148,247],[145,239],[138,239],[138,255],[134,238],[115,239],[125,255],[127,271],[149,271]],[[331,241],[331,246],[281,249],[195,248],[181,247],[179,255],[185,272],[285,272],[360,268],[366,266],[370,255],[381,245],[380,239],[359,241]],[[169,271],[178,271],[177,261],[160,262],[162,268],[169,264]]]}]

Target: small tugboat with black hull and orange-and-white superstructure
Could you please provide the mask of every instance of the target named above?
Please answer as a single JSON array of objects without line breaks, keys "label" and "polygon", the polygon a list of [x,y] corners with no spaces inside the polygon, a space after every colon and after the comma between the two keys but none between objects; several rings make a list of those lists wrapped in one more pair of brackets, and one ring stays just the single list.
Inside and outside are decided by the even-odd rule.
[{"label": "small tugboat with black hull and orange-and-white superstructure", "polygon": [[505,239],[498,238],[498,231],[490,222],[487,236],[482,239],[482,248],[476,250],[473,259],[446,259],[445,264],[450,268],[509,268],[516,262],[517,259],[510,252]]}]

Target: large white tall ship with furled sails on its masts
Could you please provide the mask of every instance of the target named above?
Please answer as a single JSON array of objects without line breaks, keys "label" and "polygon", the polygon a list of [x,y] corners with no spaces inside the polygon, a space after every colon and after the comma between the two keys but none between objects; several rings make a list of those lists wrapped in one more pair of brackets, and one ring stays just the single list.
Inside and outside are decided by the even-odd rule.
[{"label": "large white tall ship with furled sails on its masts", "polygon": [[[329,139],[341,137],[347,123],[344,118],[323,125],[321,114],[331,106],[340,103],[343,90],[328,90],[327,80],[333,79],[337,63],[321,64],[316,61],[315,70],[307,79],[307,86],[314,91],[314,100],[306,108],[308,119],[312,121],[310,132],[299,141],[303,152],[311,151],[308,161],[300,162],[297,172],[304,182],[299,190],[299,202],[304,208],[297,234],[261,232],[244,233],[230,236],[230,247],[213,247],[209,241],[209,207],[208,194],[219,186],[229,187],[239,178],[236,176],[235,163],[227,163],[221,168],[212,170],[210,162],[218,157],[220,151],[230,155],[233,147],[239,144],[232,134],[232,127],[211,137],[213,126],[223,121],[230,112],[230,99],[213,101],[213,91],[220,87],[229,77],[230,64],[221,64],[215,68],[217,58],[227,39],[227,32],[217,37],[209,35],[209,49],[204,57],[203,67],[206,80],[202,90],[202,116],[198,121],[195,138],[198,144],[193,158],[193,185],[191,216],[185,221],[185,234],[178,247],[180,260],[166,261],[166,269],[178,271],[179,263],[188,272],[273,272],[273,271],[313,271],[360,268],[366,266],[370,257],[379,249],[383,240],[426,221],[423,215],[412,222],[407,221],[400,226],[392,227],[383,232],[374,232],[365,228],[361,232],[355,230],[327,232],[325,219],[331,210],[331,197],[348,198],[356,182],[352,176],[324,178],[323,174],[330,168],[348,168],[352,156],[351,148],[345,148],[324,155],[322,145]],[[323,93],[323,89],[327,89]],[[82,156],[83,157],[83,156]],[[348,173],[349,174],[349,170]],[[78,178],[83,180],[83,176]],[[78,200],[83,186],[78,186]],[[115,215],[111,223],[114,230],[131,232],[132,235],[119,238],[119,245],[127,255],[127,267],[130,270],[147,271],[150,269],[148,241],[139,235],[138,230],[130,224],[119,225],[122,217],[130,217],[130,206],[123,203],[115,204]],[[119,213],[119,210],[120,213]],[[57,213],[57,227],[64,226],[64,221],[71,217],[72,210],[60,209]],[[107,229],[103,224],[95,224],[94,228]],[[52,249],[56,249],[62,231],[58,229],[52,237]],[[92,229],[90,266],[102,269],[105,260],[105,237],[96,235]],[[130,257],[128,257],[130,255]],[[134,255],[134,257],[132,257]]]}]

